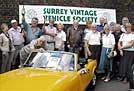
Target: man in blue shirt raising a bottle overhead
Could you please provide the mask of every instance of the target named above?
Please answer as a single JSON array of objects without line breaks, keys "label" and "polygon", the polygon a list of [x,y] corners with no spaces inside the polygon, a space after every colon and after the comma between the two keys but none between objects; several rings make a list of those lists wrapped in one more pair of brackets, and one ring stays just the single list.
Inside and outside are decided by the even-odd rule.
[{"label": "man in blue shirt raising a bottle overhead", "polygon": [[37,39],[42,35],[41,29],[37,27],[38,18],[33,17],[31,25],[29,25],[23,16],[22,23],[24,25],[24,30],[26,31],[26,44],[29,44],[33,39]]}]

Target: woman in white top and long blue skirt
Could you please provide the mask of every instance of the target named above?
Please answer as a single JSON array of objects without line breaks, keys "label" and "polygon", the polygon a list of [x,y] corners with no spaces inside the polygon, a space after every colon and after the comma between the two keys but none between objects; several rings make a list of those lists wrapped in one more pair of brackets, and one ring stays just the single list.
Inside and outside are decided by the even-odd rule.
[{"label": "woman in white top and long blue skirt", "polygon": [[110,80],[110,73],[112,72],[112,55],[115,46],[114,35],[110,33],[108,25],[104,27],[104,34],[102,36],[102,51],[99,64],[99,70],[105,71],[106,75],[102,77],[105,82]]}]

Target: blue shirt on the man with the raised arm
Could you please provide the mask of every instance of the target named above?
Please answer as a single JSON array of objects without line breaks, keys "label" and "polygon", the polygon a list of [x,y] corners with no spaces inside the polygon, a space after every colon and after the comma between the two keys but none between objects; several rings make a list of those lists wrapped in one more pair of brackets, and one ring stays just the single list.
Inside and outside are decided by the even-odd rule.
[{"label": "blue shirt on the man with the raised arm", "polygon": [[31,25],[29,25],[25,20],[22,21],[26,33],[26,43],[30,43],[33,39],[37,39],[42,35],[42,31],[39,27],[35,31],[32,30]]}]

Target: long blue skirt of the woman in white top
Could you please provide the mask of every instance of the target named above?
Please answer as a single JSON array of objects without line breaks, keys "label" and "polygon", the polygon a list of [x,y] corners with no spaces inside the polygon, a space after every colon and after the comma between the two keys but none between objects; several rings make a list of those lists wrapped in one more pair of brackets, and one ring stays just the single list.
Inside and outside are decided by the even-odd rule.
[{"label": "long blue skirt of the woman in white top", "polygon": [[[101,50],[101,58],[100,58],[100,63],[99,63],[99,67],[98,69],[100,71],[104,71],[104,66],[105,66],[105,61],[106,61],[106,56],[107,54],[111,51],[111,48],[105,48],[105,47],[102,47],[102,50]],[[113,60],[110,59],[110,71],[112,71],[112,63],[113,63]]]}]

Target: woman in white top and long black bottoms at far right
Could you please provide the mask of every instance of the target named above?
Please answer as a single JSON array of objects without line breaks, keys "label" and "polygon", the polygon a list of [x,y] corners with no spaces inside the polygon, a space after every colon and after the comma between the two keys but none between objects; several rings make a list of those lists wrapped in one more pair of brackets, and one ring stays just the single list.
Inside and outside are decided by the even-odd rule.
[{"label": "woman in white top and long black bottoms at far right", "polygon": [[118,49],[122,56],[120,75],[124,83],[129,81],[131,65],[134,63],[134,34],[132,34],[131,24],[126,23],[126,33],[123,33],[118,42]]}]

